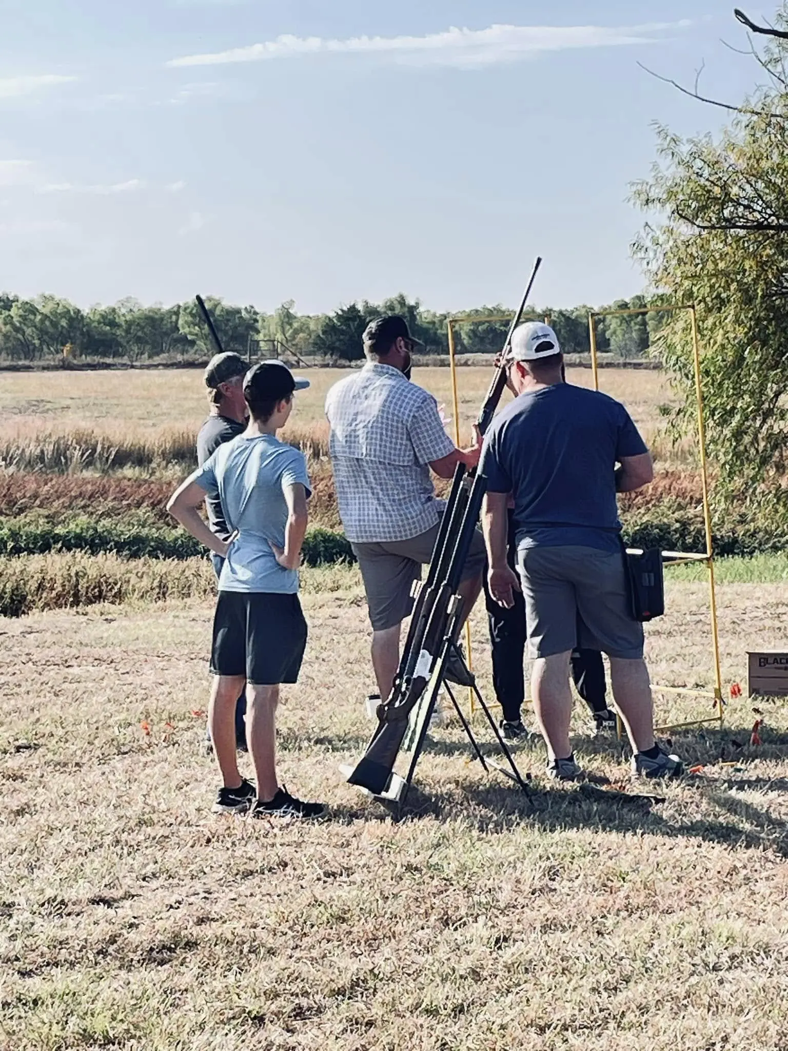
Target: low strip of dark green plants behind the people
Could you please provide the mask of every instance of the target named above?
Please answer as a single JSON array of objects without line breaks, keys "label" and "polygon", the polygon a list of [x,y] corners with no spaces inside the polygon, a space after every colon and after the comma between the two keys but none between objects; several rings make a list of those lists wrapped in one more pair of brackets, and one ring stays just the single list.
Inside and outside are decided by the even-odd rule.
[{"label": "low strip of dark green plants behind the people", "polygon": [[[663,551],[705,551],[703,521],[698,515],[673,514],[628,516],[624,522],[627,543]],[[714,554],[745,556],[788,549],[788,535],[759,528],[752,522],[733,523],[714,534]],[[0,518],[0,554],[42,555],[50,551],[83,551],[116,554],[125,558],[192,558],[205,549],[188,533],[157,522],[147,514],[123,518],[94,519],[86,515],[66,518],[30,513]],[[307,565],[355,561],[341,533],[312,529],[304,541]]]}]

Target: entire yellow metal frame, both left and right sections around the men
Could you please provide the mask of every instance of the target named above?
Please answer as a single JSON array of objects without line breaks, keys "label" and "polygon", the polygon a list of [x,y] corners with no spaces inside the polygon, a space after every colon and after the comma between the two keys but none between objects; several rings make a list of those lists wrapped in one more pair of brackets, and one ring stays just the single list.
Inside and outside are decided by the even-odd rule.
[{"label": "entire yellow metal frame, both left and right sections around the men", "polygon": [[[723,694],[722,694],[722,673],[720,666],[720,634],[719,634],[719,623],[717,614],[717,589],[714,583],[714,559],[711,545],[711,508],[709,501],[709,482],[708,482],[708,460],[706,456],[706,427],[705,418],[703,412],[703,385],[701,378],[701,346],[698,333],[698,313],[694,305],[688,306],[666,306],[666,307],[641,307],[637,309],[629,310],[600,310],[594,311],[588,314],[588,336],[590,342],[590,358],[592,358],[592,372],[594,376],[594,389],[599,390],[599,354],[597,350],[597,329],[596,322],[599,317],[613,317],[622,314],[649,314],[649,313],[672,313],[679,310],[686,310],[690,315],[691,332],[692,332],[692,359],[694,368],[694,385],[696,385],[696,400],[697,400],[697,423],[698,423],[698,447],[699,447],[699,459],[701,468],[701,486],[703,492],[703,523],[706,537],[706,551],[703,553],[693,552],[680,552],[680,551],[665,551],[663,552],[663,558],[667,565],[686,565],[694,562],[702,562],[706,565],[708,570],[708,586],[709,586],[709,613],[711,617],[711,647],[714,662],[714,688],[713,693],[703,689],[691,689],[685,686],[654,686],[652,688],[658,693],[663,694],[680,694],[689,695],[692,697],[708,697],[714,701],[714,707],[717,714],[709,719],[694,719],[690,722],[684,723],[673,723],[671,725],[657,726],[655,727],[660,733],[668,733],[671,730],[686,729],[691,726],[702,726],[708,723],[718,723],[722,725],[724,719],[724,706],[723,706]],[[535,314],[524,317],[523,321],[538,318],[541,320],[541,315]],[[457,392],[457,363],[456,363],[456,347],[454,341],[454,326],[463,324],[474,324],[474,323],[484,323],[484,322],[511,322],[511,315],[490,315],[483,317],[474,317],[469,315],[459,315],[456,317],[450,317],[448,320],[448,330],[449,330],[449,364],[452,372],[452,403],[454,409],[454,440],[457,446],[460,444],[460,430],[459,430],[459,397]],[[549,324],[549,318],[544,318],[546,324]],[[473,651],[472,651],[472,638],[471,638],[471,624],[470,621],[465,622],[465,646],[468,650],[468,663],[469,667],[473,668]],[[472,689],[469,689],[469,702],[471,715],[476,710],[475,705],[475,695]],[[497,705],[496,705],[497,706]],[[619,737],[622,734],[622,725],[619,720]]]}]

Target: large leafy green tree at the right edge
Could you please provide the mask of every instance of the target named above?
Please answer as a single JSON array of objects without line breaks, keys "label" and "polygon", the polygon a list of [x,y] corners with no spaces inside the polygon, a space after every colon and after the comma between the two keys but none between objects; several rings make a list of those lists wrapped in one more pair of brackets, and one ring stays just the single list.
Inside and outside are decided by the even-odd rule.
[{"label": "large leafy green tree at the right edge", "polygon": [[[788,25],[788,0],[777,24]],[[659,129],[659,161],[635,190],[657,221],[636,250],[664,300],[698,308],[722,501],[788,514],[788,42],[767,35],[764,50],[751,47],[765,80],[750,98],[734,105],[687,91],[731,110],[721,135],[682,140]],[[686,313],[661,329],[658,348],[689,395]],[[692,406],[688,396],[687,420]]]}]

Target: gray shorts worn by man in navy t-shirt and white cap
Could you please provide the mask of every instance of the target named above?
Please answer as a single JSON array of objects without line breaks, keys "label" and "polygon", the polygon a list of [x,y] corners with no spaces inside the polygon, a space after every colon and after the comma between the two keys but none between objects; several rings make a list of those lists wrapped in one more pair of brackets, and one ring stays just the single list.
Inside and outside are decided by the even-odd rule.
[{"label": "gray shorts worn by man in navy t-shirt and white cap", "polygon": [[643,625],[633,620],[622,552],[528,548],[517,553],[532,657],[577,646],[608,657],[643,656]]}]

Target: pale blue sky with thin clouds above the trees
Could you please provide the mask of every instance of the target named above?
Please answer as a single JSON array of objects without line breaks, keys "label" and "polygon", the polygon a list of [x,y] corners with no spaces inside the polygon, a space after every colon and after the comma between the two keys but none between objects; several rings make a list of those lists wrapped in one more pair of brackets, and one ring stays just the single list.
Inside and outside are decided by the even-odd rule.
[{"label": "pale blue sky with thin clouds above the trees", "polygon": [[732,6],[3,0],[0,288],[459,310],[541,253],[540,303],[628,296],[651,122],[721,121],[638,62],[738,100]]}]

